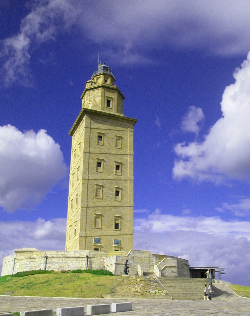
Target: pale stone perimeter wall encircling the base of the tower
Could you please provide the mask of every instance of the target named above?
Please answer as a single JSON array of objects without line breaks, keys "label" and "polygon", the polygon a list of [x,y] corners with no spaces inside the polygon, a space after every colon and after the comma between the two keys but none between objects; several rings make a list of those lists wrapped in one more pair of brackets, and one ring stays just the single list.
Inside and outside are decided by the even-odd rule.
[{"label": "pale stone perimeter wall encircling the base of the tower", "polygon": [[[125,261],[130,265],[129,275],[142,275],[157,268],[158,276],[189,277],[188,261],[185,259],[166,256],[156,266],[156,258],[149,251],[131,250],[125,252],[110,251],[21,251],[16,250],[13,255],[3,258],[1,276],[15,274],[30,270],[76,270],[86,269],[86,256],[88,256],[88,269],[109,270],[114,275],[124,274]],[[163,256],[163,255],[161,255]]]}]

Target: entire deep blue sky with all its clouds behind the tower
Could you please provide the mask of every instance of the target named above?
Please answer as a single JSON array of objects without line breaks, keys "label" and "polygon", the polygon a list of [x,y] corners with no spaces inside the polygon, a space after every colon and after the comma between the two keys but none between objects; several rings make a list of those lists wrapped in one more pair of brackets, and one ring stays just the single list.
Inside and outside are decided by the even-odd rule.
[{"label": "entire deep blue sky with all its clouds behind the tower", "polygon": [[134,127],[134,248],[250,285],[248,1],[0,2],[0,261],[63,250],[84,85],[113,69]]}]

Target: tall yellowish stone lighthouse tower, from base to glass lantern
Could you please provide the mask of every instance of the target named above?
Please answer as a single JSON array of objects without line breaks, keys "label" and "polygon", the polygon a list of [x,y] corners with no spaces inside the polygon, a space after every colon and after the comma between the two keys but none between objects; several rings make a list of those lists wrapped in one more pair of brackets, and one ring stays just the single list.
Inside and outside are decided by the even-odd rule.
[{"label": "tall yellowish stone lighthouse tower, from base to glass lantern", "polygon": [[115,76],[99,64],[70,129],[70,186],[65,250],[133,249],[133,125],[123,114]]}]

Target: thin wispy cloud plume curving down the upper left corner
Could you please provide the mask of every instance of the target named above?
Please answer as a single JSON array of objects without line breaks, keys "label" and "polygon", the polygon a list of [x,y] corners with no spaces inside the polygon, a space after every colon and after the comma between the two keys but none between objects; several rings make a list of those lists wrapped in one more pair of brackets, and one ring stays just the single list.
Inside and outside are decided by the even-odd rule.
[{"label": "thin wispy cloud plume curving down the upper left corner", "polygon": [[67,0],[37,2],[32,6],[31,12],[21,21],[19,33],[1,42],[1,71],[6,86],[13,82],[24,86],[32,84],[32,51],[41,43],[55,40],[58,32],[69,24],[70,18],[76,17],[74,12],[76,8]]}]

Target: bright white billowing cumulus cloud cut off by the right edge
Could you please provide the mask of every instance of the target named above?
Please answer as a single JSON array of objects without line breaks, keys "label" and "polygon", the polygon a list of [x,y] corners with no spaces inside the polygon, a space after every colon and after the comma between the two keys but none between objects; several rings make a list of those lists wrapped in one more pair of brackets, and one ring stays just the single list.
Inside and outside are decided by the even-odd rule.
[{"label": "bright white billowing cumulus cloud cut off by the right edge", "polygon": [[198,181],[250,180],[250,52],[223,93],[222,117],[202,142],[179,143],[173,177]]}]

